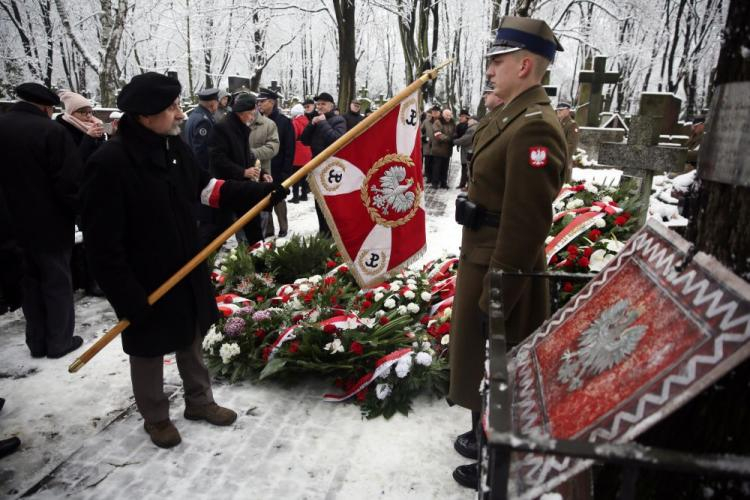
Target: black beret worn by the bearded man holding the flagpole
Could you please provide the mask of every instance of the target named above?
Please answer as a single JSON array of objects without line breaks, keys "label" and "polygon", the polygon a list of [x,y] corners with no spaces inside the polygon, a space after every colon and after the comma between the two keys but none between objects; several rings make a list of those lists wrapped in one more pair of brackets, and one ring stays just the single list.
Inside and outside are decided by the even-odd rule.
[{"label": "black beret worn by the bearded man holding the flagpole", "polygon": [[148,72],[134,76],[117,96],[117,107],[126,113],[156,115],[172,105],[182,86],[176,78]]}]

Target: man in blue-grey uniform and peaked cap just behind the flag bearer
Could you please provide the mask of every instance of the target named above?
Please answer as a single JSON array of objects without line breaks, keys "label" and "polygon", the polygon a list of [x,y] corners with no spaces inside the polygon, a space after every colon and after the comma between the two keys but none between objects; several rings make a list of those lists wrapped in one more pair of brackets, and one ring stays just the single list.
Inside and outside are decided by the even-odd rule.
[{"label": "man in blue-grey uniform and peaked cap just behind the flag bearer", "polygon": [[[183,139],[193,150],[197,166],[209,171],[208,137],[216,124],[214,113],[219,108],[219,89],[205,89],[198,92],[198,106],[190,112],[183,131]],[[196,204],[193,207],[200,231],[201,245],[206,246],[216,238],[230,221],[218,210]]]}]

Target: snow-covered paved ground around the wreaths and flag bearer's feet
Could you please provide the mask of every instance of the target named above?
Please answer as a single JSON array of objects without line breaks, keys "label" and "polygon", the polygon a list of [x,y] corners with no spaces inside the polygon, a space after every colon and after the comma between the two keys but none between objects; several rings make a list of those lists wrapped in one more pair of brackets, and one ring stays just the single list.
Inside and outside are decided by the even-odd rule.
[{"label": "snow-covered paved ground around the wreaths and flag bearer's feet", "polygon": [[[459,165],[452,166],[452,185]],[[453,220],[458,190],[428,190],[428,248],[423,260],[457,253]],[[290,231],[312,233],[312,199],[289,204]],[[104,299],[77,296],[76,335],[84,348],[116,323]],[[326,403],[330,387],[249,382],[214,384],[217,402],[239,413],[216,428],[182,417],[180,379],[165,358],[165,390],[183,442],[151,444],[135,410],[127,356],[115,340],[76,374],[63,359],[32,359],[20,311],[0,316],[0,439],[21,449],[0,459],[0,498],[473,498],[453,468],[453,450],[469,414],[420,398],[409,417],[363,420],[354,405]]]}]

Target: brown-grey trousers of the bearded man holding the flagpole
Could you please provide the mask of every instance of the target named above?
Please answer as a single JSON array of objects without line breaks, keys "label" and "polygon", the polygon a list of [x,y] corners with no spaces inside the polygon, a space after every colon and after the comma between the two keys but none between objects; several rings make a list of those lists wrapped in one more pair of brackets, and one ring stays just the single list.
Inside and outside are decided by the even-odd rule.
[{"label": "brown-grey trousers of the bearded man holding the flagpole", "polygon": [[[203,362],[203,338],[196,332],[193,343],[177,351],[177,370],[185,389],[185,404],[202,406],[214,402],[211,377]],[[130,379],[133,395],[143,419],[148,423],[169,418],[169,400],[164,394],[164,356],[144,358],[130,356]]]}]

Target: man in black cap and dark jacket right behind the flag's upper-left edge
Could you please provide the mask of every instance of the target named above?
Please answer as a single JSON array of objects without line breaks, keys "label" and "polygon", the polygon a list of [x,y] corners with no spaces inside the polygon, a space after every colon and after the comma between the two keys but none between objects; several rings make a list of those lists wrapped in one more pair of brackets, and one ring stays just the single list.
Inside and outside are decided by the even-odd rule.
[{"label": "man in black cap and dark jacket right behind the flag's upper-left edge", "polygon": [[[315,109],[318,114],[310,120],[310,124],[305,127],[300,136],[302,144],[312,149],[313,158],[346,133],[346,120],[335,114],[334,108],[333,96],[328,92],[321,92],[315,96]],[[317,200],[315,200],[315,212],[318,214],[320,234],[330,236],[331,229],[328,227]]]}]

